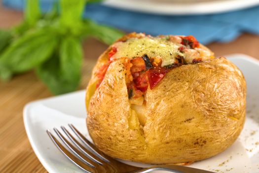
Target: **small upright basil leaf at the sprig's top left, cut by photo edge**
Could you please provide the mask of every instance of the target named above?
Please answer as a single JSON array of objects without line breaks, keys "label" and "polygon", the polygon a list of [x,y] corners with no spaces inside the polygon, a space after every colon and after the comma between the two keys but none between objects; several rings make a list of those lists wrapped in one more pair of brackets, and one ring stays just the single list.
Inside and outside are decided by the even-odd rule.
[{"label": "small upright basil leaf at the sprig's top left, cut by photo edge", "polygon": [[39,0],[26,0],[25,19],[30,25],[34,25],[40,18]]}]

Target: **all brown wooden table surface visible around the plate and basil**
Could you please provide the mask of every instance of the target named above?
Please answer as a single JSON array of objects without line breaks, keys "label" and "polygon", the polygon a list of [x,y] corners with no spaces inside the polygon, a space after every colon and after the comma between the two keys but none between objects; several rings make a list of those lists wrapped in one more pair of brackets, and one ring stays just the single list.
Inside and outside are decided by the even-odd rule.
[{"label": "all brown wooden table surface visible around the plate and basil", "polygon": [[[19,11],[0,5],[0,28],[17,24]],[[259,59],[259,36],[244,34],[232,43],[213,43],[209,47],[216,55],[245,53]],[[85,88],[96,58],[107,45],[90,39],[84,44],[85,62],[79,89]],[[34,72],[15,76],[8,83],[0,82],[0,173],[46,173],[27,138],[22,118],[26,103],[52,96]]]}]

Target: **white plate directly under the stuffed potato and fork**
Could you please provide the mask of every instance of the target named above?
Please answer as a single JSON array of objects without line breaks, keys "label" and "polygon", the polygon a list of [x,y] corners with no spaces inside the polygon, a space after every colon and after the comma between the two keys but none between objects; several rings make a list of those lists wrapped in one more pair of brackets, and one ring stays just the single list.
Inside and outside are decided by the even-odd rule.
[{"label": "white plate directly under the stuffed potato and fork", "polygon": [[[219,173],[259,173],[259,61],[247,55],[229,55],[244,73],[247,81],[247,119],[236,142],[221,154],[196,162],[190,167]],[[28,103],[24,108],[24,124],[31,145],[49,173],[82,173],[54,146],[46,134],[53,127],[68,123],[90,139],[85,125],[85,91]],[[90,139],[91,140],[91,139]],[[133,162],[126,162],[133,164]]]}]

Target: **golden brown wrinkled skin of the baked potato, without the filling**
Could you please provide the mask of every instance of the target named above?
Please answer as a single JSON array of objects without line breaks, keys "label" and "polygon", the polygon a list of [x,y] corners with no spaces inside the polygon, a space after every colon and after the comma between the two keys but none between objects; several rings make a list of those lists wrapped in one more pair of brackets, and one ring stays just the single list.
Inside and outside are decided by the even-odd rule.
[{"label": "golden brown wrinkled skin of the baked potato, without the filling", "polygon": [[[107,59],[105,52],[93,71]],[[107,155],[150,164],[193,162],[229,147],[245,122],[246,82],[224,57],[172,69],[148,87],[147,123],[130,129],[123,59],[111,63],[100,87],[89,94],[87,128]]]}]

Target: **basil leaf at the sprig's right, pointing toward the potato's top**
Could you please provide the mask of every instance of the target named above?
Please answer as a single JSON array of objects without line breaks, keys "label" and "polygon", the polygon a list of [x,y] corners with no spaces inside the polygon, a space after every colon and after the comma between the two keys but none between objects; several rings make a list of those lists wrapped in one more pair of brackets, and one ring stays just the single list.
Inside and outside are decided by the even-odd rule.
[{"label": "basil leaf at the sprig's right, pointing toward the potato's top", "polygon": [[85,22],[84,28],[88,30],[89,35],[109,45],[114,43],[117,39],[121,38],[125,34],[118,29],[105,25],[99,25],[90,20]]}]

